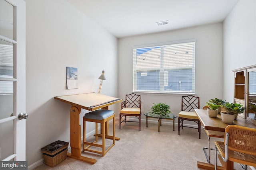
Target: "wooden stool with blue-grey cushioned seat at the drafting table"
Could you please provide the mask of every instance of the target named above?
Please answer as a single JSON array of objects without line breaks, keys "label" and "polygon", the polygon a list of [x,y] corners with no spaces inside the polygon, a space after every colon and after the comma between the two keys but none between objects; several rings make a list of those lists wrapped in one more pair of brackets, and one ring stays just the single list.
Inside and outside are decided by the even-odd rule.
[{"label": "wooden stool with blue-grey cushioned seat at the drafting table", "polygon": [[[113,119],[113,136],[106,135],[108,133],[108,129],[106,128],[106,125],[108,123],[108,120]],[[85,122],[95,122],[95,141],[94,142],[86,142],[86,135],[85,135]],[[98,134],[98,123],[101,123],[101,131],[102,134]],[[98,137],[102,137],[102,144],[98,144]],[[105,138],[112,139],[113,143],[108,149],[105,150]],[[86,145],[88,145],[86,147]],[[89,113],[84,114],[84,122],[83,122],[83,151],[89,151],[94,152],[98,154],[102,154],[104,156],[108,150],[110,150],[115,145],[115,114],[112,110],[106,110],[106,109],[99,109],[95,111],[91,111]],[[102,151],[90,149],[91,146],[94,147],[100,147],[102,148]]]}]

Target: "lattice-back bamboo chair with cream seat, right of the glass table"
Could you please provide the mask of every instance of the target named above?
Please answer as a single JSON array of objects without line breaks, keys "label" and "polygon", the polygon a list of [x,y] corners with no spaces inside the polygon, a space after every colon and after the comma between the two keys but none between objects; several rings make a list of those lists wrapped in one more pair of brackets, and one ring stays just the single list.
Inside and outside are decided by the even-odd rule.
[{"label": "lattice-back bamboo chair with cream seat, right of the glass table", "polygon": [[[196,113],[194,112],[194,109],[200,108],[200,99],[199,97],[188,95],[188,96],[182,96],[181,98],[181,111],[178,115],[178,134],[180,135],[180,127],[183,129],[183,127],[189,127],[198,129],[199,132],[199,139],[201,139],[201,122],[198,119]],[[197,123],[198,127],[192,127],[192,126],[184,126],[183,121],[194,121]]]}]

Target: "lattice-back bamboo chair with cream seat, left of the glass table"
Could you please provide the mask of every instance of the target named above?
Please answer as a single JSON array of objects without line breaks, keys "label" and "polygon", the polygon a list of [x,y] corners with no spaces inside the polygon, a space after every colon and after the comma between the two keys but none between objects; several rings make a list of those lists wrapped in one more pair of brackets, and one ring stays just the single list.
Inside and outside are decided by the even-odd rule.
[{"label": "lattice-back bamboo chair with cream seat, left of the glass table", "polygon": [[[127,120],[127,116],[135,116],[139,119],[139,121]],[[122,117],[124,120],[121,121]],[[141,117],[141,101],[140,95],[126,94],[125,101],[121,104],[121,110],[119,115],[119,129],[121,129],[122,122],[138,122],[140,124]]]}]

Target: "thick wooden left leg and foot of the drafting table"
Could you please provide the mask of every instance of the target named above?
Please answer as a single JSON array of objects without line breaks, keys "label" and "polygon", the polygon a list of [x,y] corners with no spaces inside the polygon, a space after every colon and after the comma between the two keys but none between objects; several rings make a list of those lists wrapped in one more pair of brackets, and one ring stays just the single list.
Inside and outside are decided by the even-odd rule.
[{"label": "thick wooden left leg and foot of the drafting table", "polygon": [[96,159],[81,156],[81,126],[79,124],[79,114],[81,108],[72,106],[70,109],[70,147],[71,153],[68,157],[95,164]]}]

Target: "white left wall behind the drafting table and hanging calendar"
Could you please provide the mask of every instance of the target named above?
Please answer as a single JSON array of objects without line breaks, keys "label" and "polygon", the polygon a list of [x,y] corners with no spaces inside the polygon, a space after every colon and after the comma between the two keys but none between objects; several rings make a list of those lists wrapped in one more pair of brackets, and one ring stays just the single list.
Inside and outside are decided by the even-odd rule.
[{"label": "white left wall behind the drafting table and hanging calendar", "polygon": [[[54,96],[98,92],[117,97],[118,40],[64,0],[26,0],[26,160],[42,159],[41,148],[70,142],[71,106]],[[78,89],[66,89],[66,66],[78,68]],[[120,105],[110,106],[117,112]],[[87,111],[82,110],[82,116]],[[86,127],[86,133],[95,125]],[[88,130],[88,131],[87,131]],[[81,130],[82,132],[82,130]]]}]

